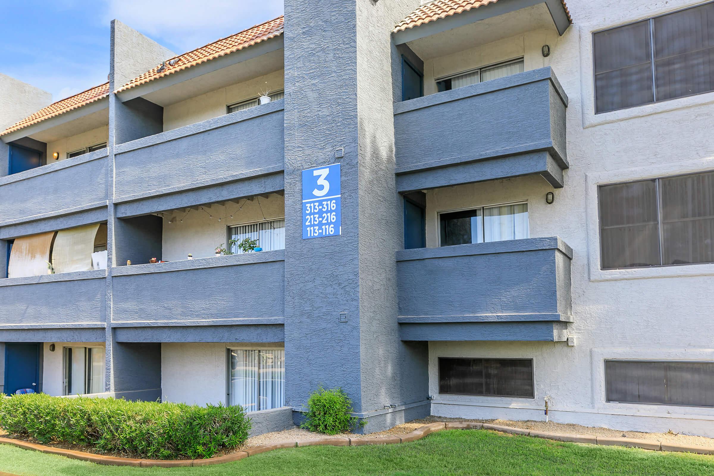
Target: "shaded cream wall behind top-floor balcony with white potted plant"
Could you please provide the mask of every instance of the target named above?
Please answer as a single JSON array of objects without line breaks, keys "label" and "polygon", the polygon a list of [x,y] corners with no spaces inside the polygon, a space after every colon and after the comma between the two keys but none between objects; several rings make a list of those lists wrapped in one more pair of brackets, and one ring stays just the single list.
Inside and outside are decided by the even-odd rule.
[{"label": "shaded cream wall behind top-floor balcony with white potted plant", "polygon": [[256,98],[266,88],[273,92],[280,91],[283,89],[283,81],[283,70],[273,71],[271,74],[231,84],[231,86],[166,106],[164,107],[164,131],[223,116],[228,104]]}]

